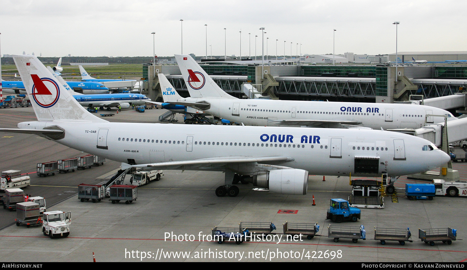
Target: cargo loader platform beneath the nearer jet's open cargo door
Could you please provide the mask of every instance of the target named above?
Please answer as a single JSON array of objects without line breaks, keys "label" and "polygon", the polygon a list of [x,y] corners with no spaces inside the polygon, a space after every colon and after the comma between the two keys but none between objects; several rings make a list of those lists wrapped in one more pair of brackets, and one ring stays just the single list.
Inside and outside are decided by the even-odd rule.
[{"label": "cargo loader platform beneath the nearer jet's open cargo door", "polygon": [[384,198],[381,192],[381,181],[352,180],[352,195],[349,196],[349,206],[356,208],[384,208]]}]

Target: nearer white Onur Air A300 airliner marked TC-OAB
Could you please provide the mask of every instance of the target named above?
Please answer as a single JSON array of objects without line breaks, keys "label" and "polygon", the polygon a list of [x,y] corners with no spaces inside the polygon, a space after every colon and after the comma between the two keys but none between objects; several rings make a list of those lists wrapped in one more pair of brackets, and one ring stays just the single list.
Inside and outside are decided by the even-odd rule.
[{"label": "nearer white Onur Air A300 airliner marked TC-OAB", "polygon": [[80,106],[35,56],[13,58],[37,121],[1,132],[39,134],[120,161],[122,169],[222,171],[218,196],[236,196],[240,177],[270,192],[301,195],[309,173],[397,176],[450,159],[425,139],[382,130],[111,123]]}]

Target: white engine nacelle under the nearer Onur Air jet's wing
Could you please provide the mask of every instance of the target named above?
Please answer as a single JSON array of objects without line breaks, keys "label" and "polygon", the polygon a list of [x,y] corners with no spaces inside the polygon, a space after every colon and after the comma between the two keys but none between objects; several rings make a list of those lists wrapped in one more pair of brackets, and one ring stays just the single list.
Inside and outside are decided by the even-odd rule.
[{"label": "white engine nacelle under the nearer Onur Air jet's wing", "polygon": [[[248,181],[248,179],[246,179]],[[269,170],[255,175],[252,179],[256,187],[269,188],[270,192],[305,195],[308,187],[308,171],[300,169]]]}]

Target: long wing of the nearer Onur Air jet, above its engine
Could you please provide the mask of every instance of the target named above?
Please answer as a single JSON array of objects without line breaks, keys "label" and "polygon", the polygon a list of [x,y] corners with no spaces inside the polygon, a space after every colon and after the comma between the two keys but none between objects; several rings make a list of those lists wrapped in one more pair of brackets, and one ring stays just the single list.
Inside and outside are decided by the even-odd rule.
[{"label": "long wing of the nearer Onur Air jet, above its engine", "polygon": [[183,160],[183,161],[169,161],[160,163],[149,163],[149,164],[138,164],[129,165],[122,163],[122,170],[126,170],[131,167],[135,168],[147,168],[158,169],[158,170],[192,170],[196,168],[219,168],[227,164],[245,164],[245,163],[283,163],[294,161],[295,159],[285,156],[271,156],[271,157],[215,157],[207,159],[194,159],[194,160]]}]

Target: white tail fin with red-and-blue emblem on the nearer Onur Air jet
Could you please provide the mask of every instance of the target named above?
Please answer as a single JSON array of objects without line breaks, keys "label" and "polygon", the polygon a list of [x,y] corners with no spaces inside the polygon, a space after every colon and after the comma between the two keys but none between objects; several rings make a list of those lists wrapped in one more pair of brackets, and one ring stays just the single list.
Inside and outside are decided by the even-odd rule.
[{"label": "white tail fin with red-and-blue emblem on the nearer Onur Air jet", "polygon": [[13,55],[37,120],[108,122],[86,111],[34,55]]}]

